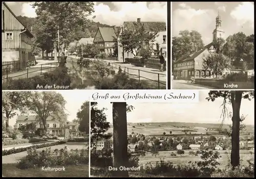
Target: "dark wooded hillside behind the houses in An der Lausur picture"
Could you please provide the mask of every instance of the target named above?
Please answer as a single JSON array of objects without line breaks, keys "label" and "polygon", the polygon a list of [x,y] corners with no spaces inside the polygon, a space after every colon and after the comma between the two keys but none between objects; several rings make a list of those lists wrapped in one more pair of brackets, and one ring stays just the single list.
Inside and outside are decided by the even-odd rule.
[{"label": "dark wooded hillside behind the houses in An der Lausur picture", "polygon": [[[27,17],[27,16],[17,16],[17,18],[22,21],[24,23],[24,25],[26,25],[26,27],[31,30],[31,27],[33,26],[33,23],[35,22],[36,18],[32,18],[32,17]],[[94,37],[96,35],[97,29],[98,27],[101,28],[109,28],[109,27],[113,27],[111,25],[108,24],[102,24],[100,22],[94,22],[91,21],[87,27],[81,27],[80,30],[77,30],[78,33],[81,33],[80,31],[84,32],[84,37],[83,38],[89,38],[89,37]],[[35,27],[33,27],[33,31],[36,31],[36,29],[34,29]]]}]

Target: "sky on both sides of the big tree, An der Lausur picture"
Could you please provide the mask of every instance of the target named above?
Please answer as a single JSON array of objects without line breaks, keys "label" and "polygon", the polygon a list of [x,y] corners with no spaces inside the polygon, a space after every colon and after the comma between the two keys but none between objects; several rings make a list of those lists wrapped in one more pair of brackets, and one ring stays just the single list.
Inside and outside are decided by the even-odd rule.
[{"label": "sky on both sides of the big tree, An der Lausur picture", "polygon": [[[6,2],[15,15],[36,17],[33,2]],[[95,2],[93,19],[109,25],[122,25],[123,21],[166,21],[166,2]],[[132,10],[132,11],[131,11]]]}]

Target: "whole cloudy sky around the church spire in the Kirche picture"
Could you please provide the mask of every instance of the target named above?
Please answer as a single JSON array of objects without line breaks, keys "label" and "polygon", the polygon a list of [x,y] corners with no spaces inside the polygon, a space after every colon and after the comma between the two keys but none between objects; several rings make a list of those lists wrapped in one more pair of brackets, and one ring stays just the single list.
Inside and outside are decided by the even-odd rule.
[{"label": "whole cloudy sky around the church spire in the Kirche picture", "polygon": [[172,36],[178,36],[182,30],[196,30],[201,33],[204,44],[209,44],[218,9],[224,38],[238,32],[247,36],[254,34],[253,2],[173,2]]}]

